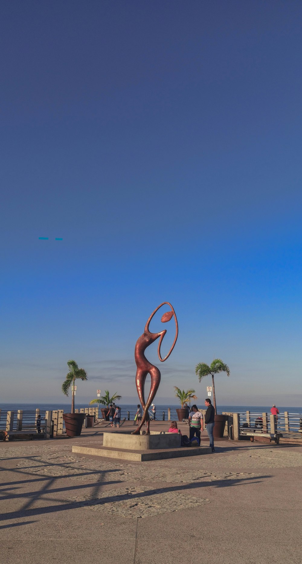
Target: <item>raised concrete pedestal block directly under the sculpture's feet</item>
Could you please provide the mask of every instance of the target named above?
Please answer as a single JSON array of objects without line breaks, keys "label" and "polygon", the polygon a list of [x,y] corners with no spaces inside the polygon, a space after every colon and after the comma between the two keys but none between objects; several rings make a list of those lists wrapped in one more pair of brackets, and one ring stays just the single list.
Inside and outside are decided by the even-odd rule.
[{"label": "raised concrete pedestal block directly under the sculpture's feet", "polygon": [[104,433],[103,446],[134,451],[148,451],[162,448],[180,448],[181,435],[178,433],[159,433],[132,435],[131,433]]}]

